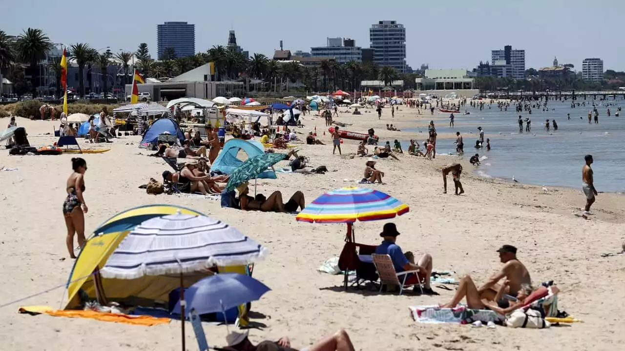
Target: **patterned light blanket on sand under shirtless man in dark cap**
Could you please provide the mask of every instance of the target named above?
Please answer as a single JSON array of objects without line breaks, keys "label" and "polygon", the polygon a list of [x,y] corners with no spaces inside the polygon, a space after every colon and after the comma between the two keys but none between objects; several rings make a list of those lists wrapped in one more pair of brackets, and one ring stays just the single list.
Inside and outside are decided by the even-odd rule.
[{"label": "patterned light blanket on sand under shirtless man in dark cap", "polygon": [[438,305],[408,307],[412,319],[419,323],[456,323],[471,324],[479,320],[482,323],[504,320],[502,315],[491,310],[467,309],[457,305],[453,309],[441,309]]}]

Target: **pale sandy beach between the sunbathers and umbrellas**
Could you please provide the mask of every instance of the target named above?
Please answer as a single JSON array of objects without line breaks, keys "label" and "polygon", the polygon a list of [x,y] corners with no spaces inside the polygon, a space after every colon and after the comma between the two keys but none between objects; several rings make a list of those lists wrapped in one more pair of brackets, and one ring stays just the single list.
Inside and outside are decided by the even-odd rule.
[{"label": "pale sandy beach between the sunbathers and umbrellas", "polygon": [[[339,114],[335,120],[351,124],[349,131],[366,132],[373,127],[381,141],[427,137],[427,123],[449,122],[447,114],[430,116],[401,106],[391,118],[384,109],[378,120],[373,109],[361,116]],[[4,127],[8,119],[0,119]],[[276,180],[259,180],[258,191],[271,194],[281,190],[286,197],[301,190],[310,202],[327,190],[359,186],[365,159],[332,155],[327,127],[320,117],[304,116],[305,127],[297,129],[302,139],[317,128],[326,146],[298,147],[309,157],[312,167],[325,165],[324,175],[279,174]],[[386,131],[386,124],[417,132]],[[33,146],[56,141],[54,122],[17,118],[26,127]],[[58,125],[58,124],[57,124]],[[324,131],[326,131],[324,135]],[[489,136],[486,136],[489,137]],[[466,193],[442,194],[439,169],[459,157],[438,155],[429,161],[403,154],[400,161],[379,159],[377,169],[386,173],[386,184],[374,187],[410,206],[407,214],[392,220],[402,234],[397,239],[404,251],[417,256],[429,253],[434,270],[452,270],[454,277],[471,274],[477,284],[496,272],[501,263],[497,248],[511,244],[529,270],[534,283],[554,280],[561,289],[559,309],[584,321],[547,330],[472,328],[466,325],[417,324],[409,306],[447,302],[454,293],[433,285],[440,296],[378,294],[369,290],[342,290],[342,277],[319,274],[317,267],[342,249],[345,225],[306,224],[294,215],[246,212],[222,209],[219,201],[148,195],[139,185],[169,169],[161,159],[147,157],[151,151],[139,149],[140,137],[114,139],[111,151],[84,154],[86,172],[84,197],[89,205],[85,215],[86,234],[124,209],[144,204],[176,204],[221,219],[237,227],[271,250],[268,259],[256,266],[254,277],[271,287],[260,301],[252,303],[251,319],[262,327],[250,331],[250,339],[291,338],[300,349],[337,329],[346,329],[356,350],[619,350],[625,347],[625,335],[619,330],[625,322],[625,255],[601,257],[621,250],[624,240],[625,197],[599,194],[592,207],[591,220],[575,217],[585,203],[581,189],[512,184],[481,179],[472,174],[470,164],[463,164],[462,184]],[[81,139],[81,146],[90,147]],[[439,133],[439,143],[451,144],[451,133]],[[467,141],[465,141],[467,143]],[[343,154],[356,152],[356,141],[345,140]],[[66,227],[61,213],[65,182],[71,174],[71,156],[9,156],[0,152],[0,167],[16,171],[0,172],[2,193],[0,214],[1,304],[64,285],[73,265],[66,252]],[[286,161],[278,166],[286,167]],[[579,164],[581,178],[582,162]],[[336,172],[333,172],[336,170]],[[615,170],[617,171],[617,170]],[[597,174],[597,177],[600,175]],[[580,179],[581,182],[581,179]],[[379,244],[385,222],[357,222],[356,241]],[[64,259],[64,260],[63,260]],[[17,314],[22,305],[49,305],[58,308],[63,289],[37,295],[2,308],[0,350],[176,350],[180,349],[180,325],[141,327]],[[621,325],[621,327],[619,327]],[[204,324],[211,346],[225,345],[226,327]],[[191,327],[187,328],[187,349],[196,350]],[[539,346],[540,345],[540,346]],[[620,345],[620,346],[619,346]]]}]

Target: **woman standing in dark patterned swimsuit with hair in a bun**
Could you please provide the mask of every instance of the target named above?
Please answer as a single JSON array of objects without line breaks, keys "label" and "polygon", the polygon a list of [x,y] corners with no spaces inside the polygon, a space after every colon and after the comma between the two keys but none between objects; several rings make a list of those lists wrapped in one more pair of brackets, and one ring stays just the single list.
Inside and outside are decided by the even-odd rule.
[{"label": "woman standing in dark patterned swimsuit with hair in a bun", "polygon": [[63,202],[63,217],[68,227],[68,236],[65,243],[68,245],[69,257],[75,259],[74,234],[78,234],[78,246],[83,247],[84,239],[84,214],[87,213],[87,204],[84,203],[84,172],[87,171],[87,162],[81,157],[72,159],[74,172],[69,176],[66,183],[68,197]]}]

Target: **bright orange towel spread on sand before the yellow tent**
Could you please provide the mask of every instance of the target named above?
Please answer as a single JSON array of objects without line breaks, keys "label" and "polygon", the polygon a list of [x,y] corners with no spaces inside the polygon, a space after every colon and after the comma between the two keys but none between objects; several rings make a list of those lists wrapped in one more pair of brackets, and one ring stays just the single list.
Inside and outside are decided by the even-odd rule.
[{"label": "bright orange towel spread on sand before the yellow tent", "polygon": [[17,312],[30,315],[47,314],[55,317],[89,318],[103,320],[104,322],[146,325],[147,327],[171,322],[169,318],[155,318],[149,315],[111,314],[92,310],[54,310],[52,307],[47,306],[25,306],[20,307]]}]

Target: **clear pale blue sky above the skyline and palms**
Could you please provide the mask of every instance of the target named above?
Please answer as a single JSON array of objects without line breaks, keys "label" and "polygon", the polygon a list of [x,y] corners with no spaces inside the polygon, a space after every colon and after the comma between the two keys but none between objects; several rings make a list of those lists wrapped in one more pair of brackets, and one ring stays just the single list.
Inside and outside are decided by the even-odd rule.
[{"label": "clear pale blue sky above the skyline and palms", "polygon": [[407,63],[414,69],[421,63],[472,68],[489,61],[492,49],[510,44],[525,49],[527,68],[551,66],[557,56],[579,70],[582,59],[599,57],[604,69],[625,71],[625,0],[9,0],[1,8],[0,29],[7,34],[36,27],[53,42],[113,51],[136,51],[147,42],[153,57],[156,25],[166,21],[195,24],[198,52],[225,45],[234,29],[250,54],[271,57],[281,39],[291,51],[324,46],[326,37],[351,37],[369,47],[371,24],[395,20],[406,27]]}]

